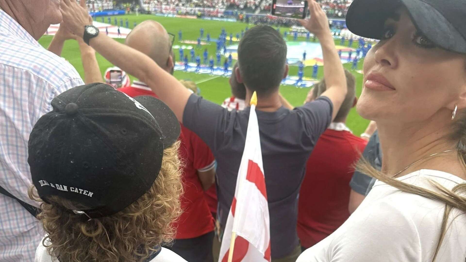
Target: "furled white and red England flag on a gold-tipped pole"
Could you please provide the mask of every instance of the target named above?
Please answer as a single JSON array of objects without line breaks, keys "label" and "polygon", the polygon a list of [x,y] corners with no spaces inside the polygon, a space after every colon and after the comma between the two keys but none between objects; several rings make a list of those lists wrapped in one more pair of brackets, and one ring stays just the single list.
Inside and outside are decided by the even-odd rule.
[{"label": "furled white and red England flag on a gold-tipped pole", "polygon": [[270,262],[270,219],[256,104],[257,96],[254,92],[246,144],[223,234],[219,262]]}]

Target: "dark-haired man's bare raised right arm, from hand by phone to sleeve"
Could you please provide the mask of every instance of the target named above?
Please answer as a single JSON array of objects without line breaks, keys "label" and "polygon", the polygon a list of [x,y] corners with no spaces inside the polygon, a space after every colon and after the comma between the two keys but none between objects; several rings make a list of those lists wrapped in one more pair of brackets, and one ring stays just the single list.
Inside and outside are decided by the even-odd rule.
[{"label": "dark-haired man's bare raised right arm, from hand by phone to sleeve", "polygon": [[346,77],[343,65],[336,51],[335,42],[329,28],[327,15],[322,11],[320,5],[315,0],[308,0],[310,18],[300,20],[303,27],[313,33],[320,41],[322,46],[323,74],[327,90],[322,96],[329,97],[333,103],[332,120],[340,110],[345,99],[348,88],[346,86]]}]

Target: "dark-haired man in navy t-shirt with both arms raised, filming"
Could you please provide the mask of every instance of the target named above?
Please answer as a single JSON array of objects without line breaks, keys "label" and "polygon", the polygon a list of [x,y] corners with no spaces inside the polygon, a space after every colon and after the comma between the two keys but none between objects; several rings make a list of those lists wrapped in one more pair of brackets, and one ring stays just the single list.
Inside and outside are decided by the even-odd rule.
[{"label": "dark-haired man in navy t-shirt with both arms raised, filming", "polygon": [[[324,75],[329,88],[321,97],[292,111],[282,107],[278,89],[288,74],[287,49],[283,38],[271,27],[248,30],[240,41],[239,66],[234,72],[238,81],[245,84],[247,102],[254,91],[258,95],[257,116],[264,172],[268,178],[273,261],[295,261],[301,253],[296,233],[296,207],[305,164],[317,138],[335,118],[347,92],[328,19],[317,3],[311,0],[309,3],[311,18],[302,21],[302,25],[316,34],[322,45],[326,63]],[[88,23],[82,19],[87,15],[86,10],[77,6],[75,0],[66,0],[61,6],[67,26],[74,34],[82,35],[82,28]],[[229,112],[192,94],[147,56],[104,34],[92,38],[89,43],[110,62],[144,80],[178,119],[212,149],[218,161],[218,215],[224,228],[244,150],[248,108]]]}]

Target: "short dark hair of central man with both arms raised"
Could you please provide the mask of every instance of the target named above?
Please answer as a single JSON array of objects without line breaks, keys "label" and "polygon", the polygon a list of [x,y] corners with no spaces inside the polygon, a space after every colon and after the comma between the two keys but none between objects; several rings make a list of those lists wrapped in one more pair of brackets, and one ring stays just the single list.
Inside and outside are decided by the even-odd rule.
[{"label": "short dark hair of central man with both arms raised", "polygon": [[285,73],[287,45],[274,28],[256,26],[247,30],[238,47],[241,78],[258,96],[277,90]]}]

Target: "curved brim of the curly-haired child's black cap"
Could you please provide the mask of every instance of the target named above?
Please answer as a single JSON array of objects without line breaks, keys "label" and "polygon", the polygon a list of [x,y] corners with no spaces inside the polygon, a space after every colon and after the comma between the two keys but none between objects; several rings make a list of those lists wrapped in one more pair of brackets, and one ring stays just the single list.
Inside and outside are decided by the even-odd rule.
[{"label": "curved brim of the curly-haired child's black cap", "polygon": [[134,97],[137,102],[141,103],[157,121],[157,124],[164,136],[164,149],[173,145],[179,138],[180,125],[175,113],[162,102],[152,96]]}]

